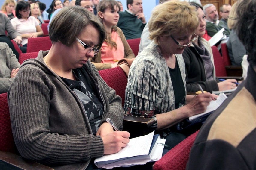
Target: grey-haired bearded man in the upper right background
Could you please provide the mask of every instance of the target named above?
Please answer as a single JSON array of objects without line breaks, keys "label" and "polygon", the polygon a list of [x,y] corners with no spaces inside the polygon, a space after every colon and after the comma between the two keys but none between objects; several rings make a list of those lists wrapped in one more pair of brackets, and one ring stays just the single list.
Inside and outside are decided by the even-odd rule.
[{"label": "grey-haired bearded man in the upper right background", "polygon": [[[206,31],[209,36],[213,37],[221,28],[225,28],[220,24],[218,11],[214,4],[203,6],[203,12],[206,15]],[[230,30],[228,27],[225,28],[223,34],[229,37]]]}]

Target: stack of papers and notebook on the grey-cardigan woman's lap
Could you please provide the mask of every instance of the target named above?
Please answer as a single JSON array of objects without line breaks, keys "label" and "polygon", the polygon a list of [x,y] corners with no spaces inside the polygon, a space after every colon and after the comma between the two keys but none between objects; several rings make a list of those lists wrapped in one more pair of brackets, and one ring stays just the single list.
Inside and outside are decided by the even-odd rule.
[{"label": "stack of papers and notebook on the grey-cardigan woman's lap", "polygon": [[94,164],[98,168],[111,169],[120,166],[142,165],[157,161],[162,157],[165,139],[161,139],[154,132],[130,139],[130,142],[121,151],[96,158]]}]

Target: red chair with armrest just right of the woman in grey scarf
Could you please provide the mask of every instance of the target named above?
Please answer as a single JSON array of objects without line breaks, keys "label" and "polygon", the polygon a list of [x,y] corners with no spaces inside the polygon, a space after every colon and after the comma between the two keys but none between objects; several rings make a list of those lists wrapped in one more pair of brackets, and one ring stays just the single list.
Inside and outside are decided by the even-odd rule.
[{"label": "red chair with armrest just right of the woman in grey scarf", "polygon": [[[237,81],[242,80],[242,72],[236,72],[236,73],[229,73],[227,70],[230,71],[229,66],[225,66],[223,58],[221,57],[220,52],[218,51],[216,46],[212,46],[212,53],[213,53],[213,60],[214,60],[214,66],[215,66],[215,73],[216,77],[222,78],[222,79],[236,79]],[[232,67],[231,67],[232,68]],[[227,74],[229,73],[229,74]]]}]

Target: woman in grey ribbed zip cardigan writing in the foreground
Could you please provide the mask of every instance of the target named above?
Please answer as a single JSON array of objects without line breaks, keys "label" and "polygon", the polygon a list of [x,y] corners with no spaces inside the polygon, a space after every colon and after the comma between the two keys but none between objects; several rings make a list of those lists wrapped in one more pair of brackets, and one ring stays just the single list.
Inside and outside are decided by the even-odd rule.
[{"label": "woman in grey ribbed zip cardigan writing in the foreground", "polygon": [[26,60],[9,90],[14,139],[22,157],[54,169],[93,169],[93,159],[129,142],[120,96],[90,63],[105,40],[96,16],[65,7],[50,24],[50,51]]}]

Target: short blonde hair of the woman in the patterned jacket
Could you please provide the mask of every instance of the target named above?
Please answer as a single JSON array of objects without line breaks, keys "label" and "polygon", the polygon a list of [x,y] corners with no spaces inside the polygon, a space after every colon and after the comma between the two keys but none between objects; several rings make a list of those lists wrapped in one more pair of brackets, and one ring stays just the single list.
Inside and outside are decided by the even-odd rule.
[{"label": "short blonde hair of the woman in the patterned jacket", "polygon": [[194,6],[184,1],[168,1],[157,5],[148,22],[149,38],[159,44],[160,36],[194,32],[199,19]]}]

